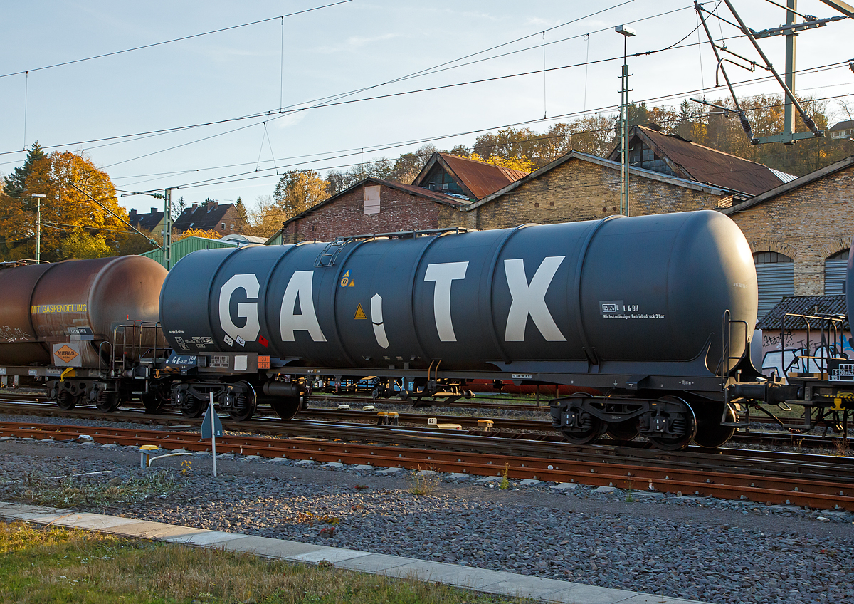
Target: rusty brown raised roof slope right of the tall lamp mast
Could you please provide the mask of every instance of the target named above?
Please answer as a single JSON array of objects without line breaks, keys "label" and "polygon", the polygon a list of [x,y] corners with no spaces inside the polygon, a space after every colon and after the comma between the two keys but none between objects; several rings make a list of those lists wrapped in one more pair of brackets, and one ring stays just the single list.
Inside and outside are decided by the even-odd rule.
[{"label": "rusty brown raised roof slope right of the tall lamp mast", "polygon": [[759,195],[782,184],[767,166],[729,155],[681,137],[636,126],[670,161],[678,164],[692,179],[730,191]]}]

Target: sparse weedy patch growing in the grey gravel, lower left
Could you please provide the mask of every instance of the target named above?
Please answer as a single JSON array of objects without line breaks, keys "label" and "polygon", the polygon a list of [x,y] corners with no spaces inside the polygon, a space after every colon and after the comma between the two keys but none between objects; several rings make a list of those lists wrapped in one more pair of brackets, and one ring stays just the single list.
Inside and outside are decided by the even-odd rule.
[{"label": "sparse weedy patch growing in the grey gravel, lower left", "polygon": [[86,477],[49,478],[28,474],[24,478],[21,497],[39,506],[107,507],[145,501],[179,488],[180,484],[165,470],[147,472],[141,477],[126,480],[114,478],[107,483]]}]

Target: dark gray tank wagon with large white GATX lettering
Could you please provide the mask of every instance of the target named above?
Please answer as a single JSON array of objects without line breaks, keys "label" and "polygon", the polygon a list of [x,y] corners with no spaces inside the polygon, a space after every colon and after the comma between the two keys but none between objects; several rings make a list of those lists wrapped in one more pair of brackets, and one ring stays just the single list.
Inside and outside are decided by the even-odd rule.
[{"label": "dark gray tank wagon with large white GATX lettering", "polygon": [[575,442],[640,431],[680,448],[698,423],[705,444],[731,436],[724,385],[756,322],[757,281],[728,217],[419,235],[188,255],[161,292],[167,340],[178,354],[272,357],[247,385],[293,413],[317,376],[377,377],[380,396],[397,378],[416,401],[512,379],[599,389],[553,402]]}]

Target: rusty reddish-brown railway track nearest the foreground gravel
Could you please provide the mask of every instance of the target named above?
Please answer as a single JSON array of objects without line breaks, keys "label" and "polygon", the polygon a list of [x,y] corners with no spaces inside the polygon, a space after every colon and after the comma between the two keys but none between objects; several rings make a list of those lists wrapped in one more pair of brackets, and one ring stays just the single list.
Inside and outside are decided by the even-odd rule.
[{"label": "rusty reddish-brown railway track nearest the foreground gravel", "polygon": [[[284,438],[221,437],[217,441],[218,451],[409,470],[465,472],[476,476],[506,473],[511,479],[534,478],[854,511],[854,458],[737,449],[673,454],[653,449],[627,451],[622,447],[508,441],[447,432],[428,435],[422,431],[381,430],[370,425],[355,428],[349,425],[350,432],[342,434],[342,425],[308,420],[289,422],[291,424],[294,434]],[[156,444],[162,449],[190,451],[209,448],[208,441],[202,440],[195,431],[0,422],[0,436],[63,441],[83,434],[102,444]],[[354,437],[360,442],[353,442]]]}]

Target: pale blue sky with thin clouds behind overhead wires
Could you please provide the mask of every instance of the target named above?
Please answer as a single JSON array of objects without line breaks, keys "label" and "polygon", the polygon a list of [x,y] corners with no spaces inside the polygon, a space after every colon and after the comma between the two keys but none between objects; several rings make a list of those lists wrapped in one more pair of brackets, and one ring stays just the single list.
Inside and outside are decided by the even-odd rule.
[{"label": "pale blue sky with thin clouds behind overhead wires", "polygon": [[[730,2],[755,31],[786,21],[767,0]],[[734,21],[723,2],[704,7]],[[818,0],[798,12],[841,16]],[[708,19],[714,38],[761,62],[734,26]],[[625,40],[635,102],[728,97],[687,0],[9,3],[0,173],[38,141],[85,153],[128,209],[161,207],[144,193],[167,188],[173,201],[240,196],[251,207],[287,170],[323,174],[428,142],[471,146],[501,127],[616,114],[618,25],[637,32]],[[796,91],[827,99],[839,120],[840,101],[854,110],[852,40],[852,19],[797,38]],[[759,42],[782,73],[784,38]],[[762,69],[725,65],[740,95],[781,92]]]}]

